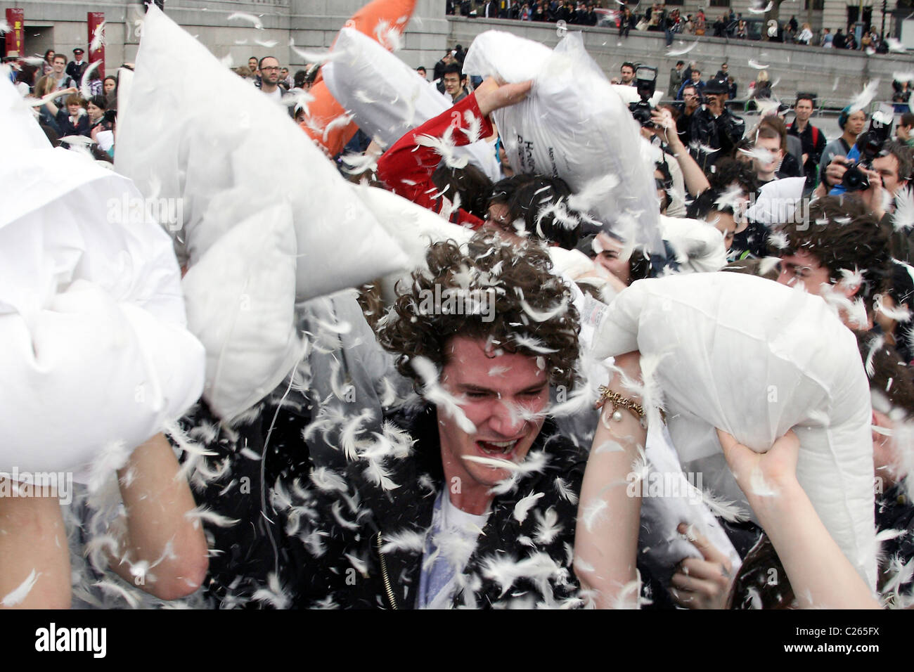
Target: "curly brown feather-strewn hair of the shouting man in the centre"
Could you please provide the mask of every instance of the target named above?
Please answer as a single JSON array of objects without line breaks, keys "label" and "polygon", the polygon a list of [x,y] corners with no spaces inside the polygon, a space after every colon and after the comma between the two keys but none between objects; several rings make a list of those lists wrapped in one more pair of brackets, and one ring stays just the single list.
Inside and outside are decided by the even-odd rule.
[{"label": "curly brown feather-strewn hair of the shouting man in the centre", "polygon": [[[398,283],[397,300],[377,323],[378,343],[399,355],[400,373],[417,378],[409,363],[412,357],[428,357],[441,368],[452,337],[470,336],[489,338],[492,345],[510,352],[543,357],[552,384],[574,385],[578,311],[571,304],[568,285],[552,274],[552,261],[542,244],[513,243],[497,231],[482,230],[464,249],[452,240],[432,244],[426,261],[427,271],[413,272],[409,285]],[[492,320],[485,322],[483,315],[472,312],[423,310],[436,287],[439,296],[476,291],[492,297]],[[566,309],[547,319],[530,315],[555,311],[562,303]]]}]

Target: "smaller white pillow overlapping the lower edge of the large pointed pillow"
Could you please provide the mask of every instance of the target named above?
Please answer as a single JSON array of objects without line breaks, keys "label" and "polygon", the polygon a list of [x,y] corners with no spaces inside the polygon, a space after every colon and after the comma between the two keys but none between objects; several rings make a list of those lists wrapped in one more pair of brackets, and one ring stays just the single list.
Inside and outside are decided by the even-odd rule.
[{"label": "smaller white pillow overlapping the lower edge of the large pointed pillow", "polygon": [[203,397],[226,421],[303,356],[295,330],[295,233],[286,205],[240,222],[184,277],[187,325],[207,349]]}]

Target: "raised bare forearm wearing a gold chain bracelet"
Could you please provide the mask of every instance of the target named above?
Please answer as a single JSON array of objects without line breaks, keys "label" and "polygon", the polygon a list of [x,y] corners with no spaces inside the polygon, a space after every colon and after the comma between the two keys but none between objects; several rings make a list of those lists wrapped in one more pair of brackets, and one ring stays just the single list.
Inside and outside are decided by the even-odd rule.
[{"label": "raised bare forearm wearing a gold chain bracelet", "polygon": [[[616,366],[630,380],[641,379],[641,356],[637,352],[616,357]],[[642,402],[623,384],[622,375],[612,376],[608,388],[634,403]],[[600,609],[637,607],[639,587],[635,561],[638,524],[641,517],[640,489],[632,492],[632,464],[643,459],[647,430],[636,413],[607,402],[584,472],[575,533],[574,569],[581,588],[593,592]]]}]

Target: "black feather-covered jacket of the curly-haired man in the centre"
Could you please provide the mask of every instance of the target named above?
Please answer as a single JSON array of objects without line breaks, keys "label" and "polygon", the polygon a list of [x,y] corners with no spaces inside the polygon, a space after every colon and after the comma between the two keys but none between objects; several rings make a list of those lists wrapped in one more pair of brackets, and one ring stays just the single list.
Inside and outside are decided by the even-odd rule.
[{"label": "black feather-covered jacket of the curly-haired man in the centre", "polygon": [[[336,491],[331,496],[324,493],[313,502],[314,510],[330,511],[332,515],[314,526],[304,526],[300,534],[303,539],[319,538],[323,542],[319,549],[323,551],[323,571],[301,577],[299,606],[414,608],[422,560],[417,540],[424,539],[430,528],[437,489],[443,481],[441,447],[434,407],[423,408],[411,420],[402,418],[400,422],[409,422],[409,434],[416,443],[410,457],[388,460],[390,479],[398,487],[385,491],[370,483],[365,464],[356,462],[346,472],[347,492]],[[548,456],[542,472],[521,476],[513,490],[495,497],[488,522],[464,571],[469,587],[454,597],[455,606],[580,605],[571,561],[577,495],[587,455],[559,435],[548,420],[530,449],[530,453],[539,451]],[[543,496],[518,522],[515,504],[531,493]],[[556,521],[552,534],[544,531],[546,519]],[[380,550],[388,542],[403,539],[404,534],[412,535],[411,546]],[[510,586],[503,586],[494,580],[493,572],[486,571],[487,564],[493,561],[535,556],[555,565],[547,584],[521,577]],[[307,558],[303,563],[314,564]]]}]

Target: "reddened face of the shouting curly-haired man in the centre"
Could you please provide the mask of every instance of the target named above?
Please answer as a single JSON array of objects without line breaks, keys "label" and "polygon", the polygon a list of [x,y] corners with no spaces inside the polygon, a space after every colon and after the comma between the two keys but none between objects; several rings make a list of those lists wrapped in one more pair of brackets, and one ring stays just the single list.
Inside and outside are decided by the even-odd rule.
[{"label": "reddened face of the shouting curly-haired man in the centre", "polygon": [[[487,497],[488,490],[510,477],[509,470],[464,457],[521,463],[543,426],[549,400],[546,370],[537,357],[485,350],[484,338],[454,336],[441,369],[441,387],[460,404],[475,432],[465,432],[446,411],[438,411],[441,460],[447,485],[463,496]],[[454,478],[459,480],[454,481]]]}]

